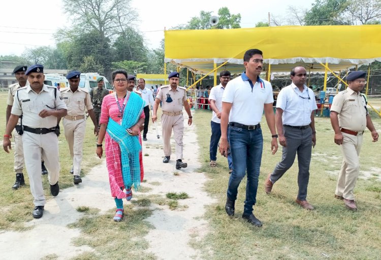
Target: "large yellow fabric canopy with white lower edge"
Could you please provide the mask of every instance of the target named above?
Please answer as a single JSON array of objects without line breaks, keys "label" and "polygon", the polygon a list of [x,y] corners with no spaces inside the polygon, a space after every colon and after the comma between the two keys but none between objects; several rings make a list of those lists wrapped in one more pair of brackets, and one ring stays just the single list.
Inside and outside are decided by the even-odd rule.
[{"label": "large yellow fabric canopy with white lower edge", "polygon": [[[260,49],[271,72],[289,72],[294,64],[324,72],[381,61],[381,25],[275,26],[239,29],[166,30],[165,62],[207,73],[213,63],[242,72],[243,54]],[[264,68],[268,65],[264,65]]]}]

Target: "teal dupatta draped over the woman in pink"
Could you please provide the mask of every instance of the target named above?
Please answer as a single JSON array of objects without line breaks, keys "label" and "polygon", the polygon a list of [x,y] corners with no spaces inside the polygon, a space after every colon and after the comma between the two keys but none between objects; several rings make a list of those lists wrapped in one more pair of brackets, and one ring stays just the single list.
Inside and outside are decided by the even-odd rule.
[{"label": "teal dupatta draped over the woman in pink", "polygon": [[110,117],[106,129],[110,137],[119,144],[124,187],[128,189],[134,185],[135,191],[140,188],[139,152],[142,146],[139,143],[139,137],[130,135],[126,129],[138,123],[144,104],[144,100],[138,94],[131,92],[123,111],[121,125]]}]

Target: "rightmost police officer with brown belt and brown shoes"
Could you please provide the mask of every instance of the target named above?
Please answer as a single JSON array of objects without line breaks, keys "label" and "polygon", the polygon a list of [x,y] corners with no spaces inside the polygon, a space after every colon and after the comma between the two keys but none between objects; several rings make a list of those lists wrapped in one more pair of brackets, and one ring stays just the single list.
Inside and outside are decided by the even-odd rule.
[{"label": "rightmost police officer with brown belt and brown shoes", "polygon": [[343,155],[335,198],[344,200],[345,206],[351,210],[357,210],[353,190],[360,172],[359,155],[365,127],[370,130],[373,142],[378,140],[366,108],[365,95],[360,94],[366,84],[365,77],[364,71],[353,71],[346,77],[348,88],[333,98],[330,115],[335,143],[340,145]]}]

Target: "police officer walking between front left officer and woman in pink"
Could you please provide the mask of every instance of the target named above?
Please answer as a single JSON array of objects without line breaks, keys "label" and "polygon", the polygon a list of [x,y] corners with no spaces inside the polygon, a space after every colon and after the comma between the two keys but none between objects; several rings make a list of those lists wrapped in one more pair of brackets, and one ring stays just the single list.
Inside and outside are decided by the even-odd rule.
[{"label": "police officer walking between front left officer and woman in pink", "polygon": [[73,160],[73,167],[70,173],[74,174],[74,184],[82,182],[80,173],[83,152],[82,144],[86,130],[85,110],[87,110],[94,124],[94,134],[98,136],[99,133],[98,122],[92,109],[90,95],[85,89],[78,88],[80,75],[80,71],[70,71],[66,76],[70,87],[60,89],[62,100],[68,107],[68,115],[63,117],[62,124],[66,140],[69,144],[70,156]]}]

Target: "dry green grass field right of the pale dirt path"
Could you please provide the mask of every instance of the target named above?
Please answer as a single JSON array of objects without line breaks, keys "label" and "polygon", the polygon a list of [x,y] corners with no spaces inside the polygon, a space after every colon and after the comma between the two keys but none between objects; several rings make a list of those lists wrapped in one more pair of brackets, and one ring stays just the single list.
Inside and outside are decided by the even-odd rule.
[{"label": "dry green grass field right of the pale dirt path", "polygon": [[[347,210],[343,202],[334,199],[341,152],[333,142],[333,130],[328,118],[315,118],[317,143],[312,150],[308,201],[314,211],[303,210],[294,201],[297,196],[297,159],[293,167],[274,184],[270,195],[264,192],[264,181],[281,158],[281,147],[270,153],[270,132],[262,120],[264,150],[255,215],[263,228],[250,226],[241,218],[245,200],[246,179],[240,184],[233,218],[225,212],[226,189],[229,181],[227,160],[217,156],[217,167],[209,167],[209,124],[211,113],[198,110],[197,122],[200,145],[199,171],[210,179],[205,189],[217,198],[207,207],[205,218],[209,233],[191,245],[201,250],[204,259],[379,259],[381,255],[381,183],[374,179],[359,179],[355,195],[359,210]],[[372,115],[376,128],[381,120]],[[361,151],[361,170],[381,168],[381,142],[372,143],[369,131],[364,135]],[[380,172],[375,172],[379,176]]]}]

